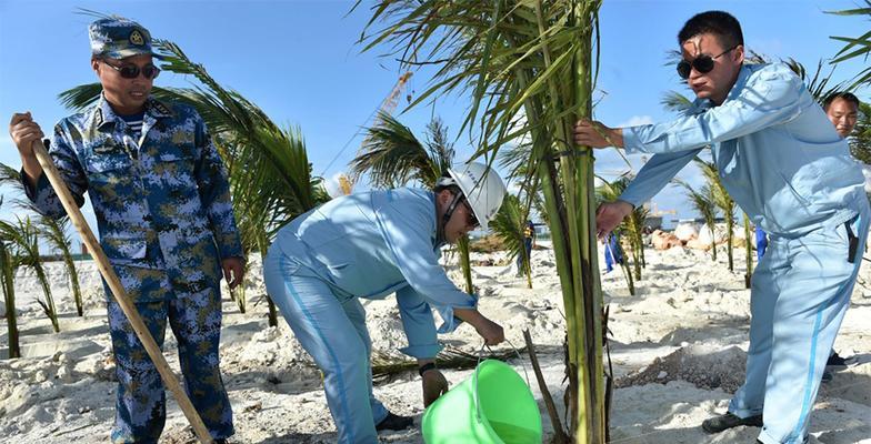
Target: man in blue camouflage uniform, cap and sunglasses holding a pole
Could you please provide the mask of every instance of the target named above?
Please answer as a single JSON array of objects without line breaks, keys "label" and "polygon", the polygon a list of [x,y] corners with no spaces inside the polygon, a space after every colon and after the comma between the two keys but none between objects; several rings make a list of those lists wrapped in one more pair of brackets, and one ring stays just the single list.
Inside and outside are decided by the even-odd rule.
[{"label": "man in blue camouflage uniform, cap and sunglasses holding a pole", "polygon": [[[219,371],[219,284],[222,271],[231,287],[244,272],[227,172],[197,111],[149,95],[160,72],[149,32],[113,17],[91,23],[89,34],[102,95],[57,124],[49,152],[79,205],[88,191],[100,244],[161,347],[169,320],[188,395],[223,442],[233,425]],[[28,198],[44,214],[63,215],[31,148],[42,138],[39,125],[16,114],[10,134]],[[118,375],[111,440],[157,443],[163,383],[111,296],[108,311]]]}]

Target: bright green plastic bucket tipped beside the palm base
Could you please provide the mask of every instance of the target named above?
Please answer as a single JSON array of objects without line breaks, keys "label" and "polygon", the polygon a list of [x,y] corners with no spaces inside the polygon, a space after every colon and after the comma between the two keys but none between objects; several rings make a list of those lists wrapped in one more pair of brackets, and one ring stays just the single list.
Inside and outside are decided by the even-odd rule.
[{"label": "bright green plastic bucket tipped beside the palm base", "polygon": [[423,413],[427,444],[541,443],[541,414],[529,386],[494,360],[439,397]]}]

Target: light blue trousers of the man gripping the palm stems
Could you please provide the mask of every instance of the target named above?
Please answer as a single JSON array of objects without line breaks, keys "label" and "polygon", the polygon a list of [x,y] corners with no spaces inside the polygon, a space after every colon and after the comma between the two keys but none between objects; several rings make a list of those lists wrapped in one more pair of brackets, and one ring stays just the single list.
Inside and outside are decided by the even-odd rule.
[{"label": "light blue trousers of the man gripping the palm stems", "polygon": [[869,228],[869,211],[849,222],[858,238],[848,261],[844,224],[798,238],[770,234],[750,292],[747,380],[729,411],[762,414],[764,444],[803,443],[825,361],[850,305]]}]

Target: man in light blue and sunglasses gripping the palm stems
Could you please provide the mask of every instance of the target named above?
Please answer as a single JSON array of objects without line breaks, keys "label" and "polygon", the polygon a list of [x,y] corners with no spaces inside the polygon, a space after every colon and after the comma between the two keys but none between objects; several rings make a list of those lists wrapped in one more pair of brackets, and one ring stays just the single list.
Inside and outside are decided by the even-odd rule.
[{"label": "man in light blue and sunglasses gripping the palm stems", "polygon": [[698,98],[685,117],[622,129],[588,120],[575,127],[578,144],[654,154],[620,200],[600,206],[597,229],[611,232],[710,147],[729,194],[771,239],[753,273],[747,380],[728,413],[702,428],[762,426],[761,443],[804,443],[868,232],[862,172],[789,67],[743,65],[741,26],[732,16],[697,14],[678,42],[678,73]]}]

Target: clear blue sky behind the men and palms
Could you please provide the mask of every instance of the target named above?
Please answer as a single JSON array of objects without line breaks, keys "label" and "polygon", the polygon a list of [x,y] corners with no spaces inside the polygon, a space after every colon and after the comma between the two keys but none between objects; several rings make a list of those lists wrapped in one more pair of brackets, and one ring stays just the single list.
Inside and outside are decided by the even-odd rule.
[{"label": "clear blue sky behind the men and palms", "polygon": [[[361,53],[357,44],[371,3],[364,1],[349,14],[352,1],[0,0],[0,118],[8,122],[13,112],[30,110],[43,130],[50,130],[67,115],[58,93],[96,81],[87,32],[92,18],[76,11],[117,13],[138,20],[156,38],[177,42],[221,84],[260,105],[276,122],[299,125],[314,172],[332,178],[353,158],[360,128],[369,123],[400,74],[392,58],[379,57],[386,51]],[[669,118],[659,103],[662,94],[689,90],[680,84],[674,68],[664,65],[665,53],[677,49],[678,30],[697,12],[727,10],[741,21],[749,49],[771,58],[792,57],[814,69],[818,60],[830,59],[841,48],[830,36],[858,37],[868,31],[863,18],[823,11],[855,7],[855,1],[840,0],[604,0],[595,118],[609,125]],[[835,79],[851,78],[861,68],[861,62],[842,64]],[[417,72],[407,92],[426,90],[428,74]],[[191,81],[163,72],[157,84],[186,87]],[[868,99],[867,91],[859,95]],[[465,104],[465,98],[439,98],[400,120],[422,133],[436,113],[454,135]],[[472,152],[465,141],[460,139],[455,145],[459,158]],[[624,168],[612,152],[601,152],[599,160],[598,169],[605,174]],[[20,165],[8,124],[0,132],[0,161]],[[635,165],[640,162],[634,159]],[[681,176],[700,183],[691,169]],[[692,216],[684,201],[682,192],[669,189],[654,198],[659,209]],[[8,216],[8,210],[0,210],[0,218]]]}]

